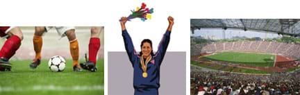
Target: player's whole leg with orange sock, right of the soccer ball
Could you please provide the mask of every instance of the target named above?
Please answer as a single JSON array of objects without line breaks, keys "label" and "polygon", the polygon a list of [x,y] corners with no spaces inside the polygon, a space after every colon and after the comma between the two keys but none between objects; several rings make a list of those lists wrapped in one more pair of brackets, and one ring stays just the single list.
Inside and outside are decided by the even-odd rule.
[{"label": "player's whole leg with orange sock, right of the soccer ball", "polygon": [[75,35],[75,29],[70,29],[66,31],[65,35],[67,35],[67,38],[69,40],[69,49],[73,59],[73,70],[81,71],[81,67],[79,67],[78,65],[79,46]]}]

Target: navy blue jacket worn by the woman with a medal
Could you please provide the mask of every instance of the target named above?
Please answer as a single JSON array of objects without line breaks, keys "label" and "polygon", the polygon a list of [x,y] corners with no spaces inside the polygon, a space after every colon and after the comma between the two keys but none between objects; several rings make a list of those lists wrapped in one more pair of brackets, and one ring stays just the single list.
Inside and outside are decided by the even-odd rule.
[{"label": "navy blue jacket worn by the woman with a medal", "polygon": [[133,87],[139,88],[156,88],[160,87],[160,64],[167,51],[171,31],[166,31],[163,39],[160,41],[158,51],[152,56],[151,61],[147,64],[147,78],[142,77],[142,66],[140,64],[140,55],[135,51],[130,35],[126,30],[122,31],[124,44],[128,58],[133,66]]}]

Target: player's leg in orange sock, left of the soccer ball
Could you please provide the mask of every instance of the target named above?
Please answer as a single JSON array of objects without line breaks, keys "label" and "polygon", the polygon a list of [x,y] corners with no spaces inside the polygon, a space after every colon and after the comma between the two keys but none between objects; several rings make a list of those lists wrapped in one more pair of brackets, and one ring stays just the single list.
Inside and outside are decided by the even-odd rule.
[{"label": "player's leg in orange sock, left of the soccer ball", "polygon": [[33,48],[35,50],[35,58],[33,59],[33,62],[29,64],[29,67],[31,67],[31,69],[35,69],[36,67],[38,67],[38,65],[40,65],[42,59],[42,35],[45,31],[47,30],[44,26],[35,27],[35,33],[33,35]]}]

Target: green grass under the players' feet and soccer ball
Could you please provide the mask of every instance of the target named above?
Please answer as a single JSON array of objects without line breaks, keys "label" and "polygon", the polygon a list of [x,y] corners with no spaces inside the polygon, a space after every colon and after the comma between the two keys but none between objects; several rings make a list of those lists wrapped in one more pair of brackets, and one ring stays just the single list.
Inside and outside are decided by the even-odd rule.
[{"label": "green grass under the players' feet and soccer ball", "polygon": [[63,72],[52,72],[48,61],[30,69],[31,60],[11,60],[12,71],[0,72],[1,95],[101,95],[104,94],[104,60],[98,60],[97,72],[74,72],[67,60]]}]

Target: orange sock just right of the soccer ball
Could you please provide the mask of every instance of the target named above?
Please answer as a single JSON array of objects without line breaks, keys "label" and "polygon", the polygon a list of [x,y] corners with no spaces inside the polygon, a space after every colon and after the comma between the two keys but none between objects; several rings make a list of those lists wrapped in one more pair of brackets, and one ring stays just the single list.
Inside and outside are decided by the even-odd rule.
[{"label": "orange sock just right of the soccer ball", "polygon": [[70,52],[73,58],[73,67],[78,65],[79,46],[77,40],[72,40],[70,43]]}]

